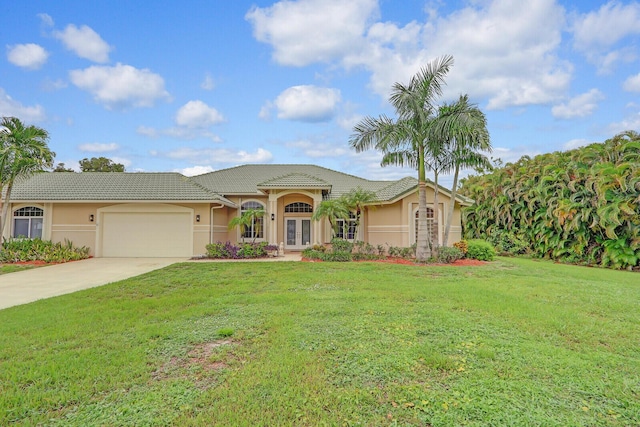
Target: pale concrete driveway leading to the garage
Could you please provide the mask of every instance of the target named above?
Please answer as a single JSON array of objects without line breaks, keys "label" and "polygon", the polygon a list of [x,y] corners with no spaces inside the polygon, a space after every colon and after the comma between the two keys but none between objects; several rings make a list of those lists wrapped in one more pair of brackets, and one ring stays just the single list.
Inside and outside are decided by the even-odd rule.
[{"label": "pale concrete driveway leading to the garage", "polygon": [[128,279],[187,258],[90,258],[0,276],[0,310]]}]

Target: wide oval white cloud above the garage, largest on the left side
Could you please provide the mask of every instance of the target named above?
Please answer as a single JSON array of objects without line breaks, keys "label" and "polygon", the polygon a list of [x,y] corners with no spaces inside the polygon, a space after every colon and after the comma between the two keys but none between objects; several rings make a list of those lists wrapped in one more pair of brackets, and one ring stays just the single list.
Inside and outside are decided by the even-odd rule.
[{"label": "wide oval white cloud above the garage, largest on the left side", "polygon": [[157,100],[169,98],[160,75],[130,65],[94,65],[72,70],[69,77],[74,85],[91,93],[108,109],[151,107]]}]

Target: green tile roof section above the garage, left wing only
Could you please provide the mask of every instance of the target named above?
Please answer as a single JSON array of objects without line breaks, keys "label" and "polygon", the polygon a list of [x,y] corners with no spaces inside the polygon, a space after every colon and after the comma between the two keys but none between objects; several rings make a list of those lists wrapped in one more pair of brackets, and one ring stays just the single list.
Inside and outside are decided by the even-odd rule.
[{"label": "green tile roof section above the garage, left wing only", "polygon": [[[44,172],[16,181],[11,200],[219,200],[179,173]],[[231,202],[229,202],[231,203]]]}]

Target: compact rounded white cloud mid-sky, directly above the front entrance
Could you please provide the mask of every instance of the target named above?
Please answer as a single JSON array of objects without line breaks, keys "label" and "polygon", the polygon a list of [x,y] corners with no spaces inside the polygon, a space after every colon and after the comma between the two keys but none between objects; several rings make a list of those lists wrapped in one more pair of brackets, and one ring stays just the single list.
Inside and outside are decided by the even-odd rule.
[{"label": "compact rounded white cloud mid-sky, directly above the front entrance", "polygon": [[[292,86],[273,102],[279,119],[302,122],[324,122],[335,115],[341,96],[338,89],[317,86]],[[263,111],[260,116],[264,116]]]}]

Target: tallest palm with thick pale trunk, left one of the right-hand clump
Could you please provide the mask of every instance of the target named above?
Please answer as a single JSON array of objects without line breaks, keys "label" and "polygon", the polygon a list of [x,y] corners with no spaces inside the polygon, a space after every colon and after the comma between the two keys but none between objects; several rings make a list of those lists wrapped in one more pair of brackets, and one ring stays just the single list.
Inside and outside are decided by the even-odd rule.
[{"label": "tallest palm with thick pale trunk, left one of the right-hand clump", "polygon": [[417,158],[418,169],[418,235],[416,258],[426,261],[431,256],[427,229],[427,181],[425,157],[428,155],[429,128],[436,115],[436,99],[442,95],[444,77],[453,65],[453,57],[437,58],[413,76],[408,85],[395,83],[389,102],[398,118],[385,115],[365,117],[354,127],[349,144],[357,152],[375,148],[384,154],[382,166],[410,165]]}]

